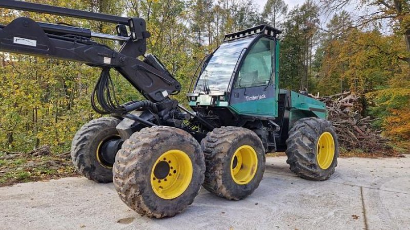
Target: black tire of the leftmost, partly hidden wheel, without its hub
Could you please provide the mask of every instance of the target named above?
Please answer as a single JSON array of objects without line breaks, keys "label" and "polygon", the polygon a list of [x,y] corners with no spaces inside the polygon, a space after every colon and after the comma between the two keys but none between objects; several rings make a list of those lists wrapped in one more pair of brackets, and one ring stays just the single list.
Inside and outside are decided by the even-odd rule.
[{"label": "black tire of the leftmost, partly hidden wheel, without its hub", "polygon": [[112,167],[99,162],[97,149],[107,138],[120,138],[115,129],[119,123],[117,118],[99,118],[77,131],[71,144],[71,159],[81,175],[96,182],[112,182]]}]

